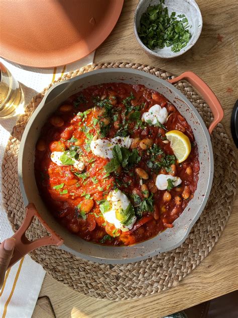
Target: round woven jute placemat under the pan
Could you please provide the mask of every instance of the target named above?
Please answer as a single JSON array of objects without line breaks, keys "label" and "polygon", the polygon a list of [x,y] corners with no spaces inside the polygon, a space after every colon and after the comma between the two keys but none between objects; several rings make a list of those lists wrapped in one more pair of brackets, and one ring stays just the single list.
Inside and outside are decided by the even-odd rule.
[{"label": "round woven jute placemat under the pan", "polygon": [[[158,68],[139,63],[112,62],[84,67],[68,73],[58,81],[104,68],[133,68],[154,74],[164,80],[172,77],[171,74]],[[25,215],[17,174],[19,144],[28,119],[49,87],[36,95],[26,107],[25,113],[13,129],[4,155],[2,170],[4,205],[15,231],[22,224]],[[185,81],[179,82],[176,87],[193,103],[206,125],[209,125],[212,121],[211,111],[193,87]],[[193,226],[185,242],[178,248],[145,261],[114,266],[88,262],[54,246],[34,250],[31,252],[32,259],[40,263],[58,281],[96,298],[114,300],[139,298],[177,286],[179,281],[211,251],[232,209],[237,171],[234,153],[222,124],[219,123],[214,129],[211,140],[215,167],[211,194],[200,219]],[[35,220],[28,231],[28,236],[30,239],[36,239],[44,232],[39,221]]]}]

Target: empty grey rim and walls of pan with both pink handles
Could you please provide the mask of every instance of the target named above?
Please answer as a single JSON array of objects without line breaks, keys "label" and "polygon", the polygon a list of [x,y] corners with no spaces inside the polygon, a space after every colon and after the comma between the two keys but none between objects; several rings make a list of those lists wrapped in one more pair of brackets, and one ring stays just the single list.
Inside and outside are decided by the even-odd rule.
[{"label": "empty grey rim and walls of pan with both pink handles", "polygon": [[[208,130],[191,102],[172,85],[183,79],[197,88],[213,112],[214,120]],[[72,94],[88,86],[108,82],[143,84],[162,93],[177,107],[191,125],[199,151],[200,171],[197,190],[181,216],[173,223],[174,227],[166,229],[147,241],[131,246],[102,246],[84,241],[68,232],[45,207],[34,177],[35,145],[41,128],[49,115]],[[61,245],[59,248],[69,251],[75,256],[105,264],[126,264],[140,261],[179,246],[188,236],[209,197],[213,179],[213,155],[209,133],[211,134],[212,129],[222,117],[223,110],[215,95],[192,72],[186,72],[175,79],[165,81],[151,74],[132,69],[103,69],[74,77],[51,87],[31,116],[20,145],[18,174],[24,204],[28,209],[25,223],[14,235],[17,239],[17,246],[11,265],[34,248],[47,244]],[[51,235],[30,243],[24,233],[34,215],[40,218]]]}]

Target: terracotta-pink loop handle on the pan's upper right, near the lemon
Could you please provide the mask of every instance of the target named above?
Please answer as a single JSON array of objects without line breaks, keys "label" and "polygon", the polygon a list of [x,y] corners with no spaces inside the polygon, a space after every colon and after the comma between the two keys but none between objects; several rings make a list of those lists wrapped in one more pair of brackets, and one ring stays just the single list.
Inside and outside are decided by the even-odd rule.
[{"label": "terracotta-pink loop handle on the pan's upper right, near the lemon", "polygon": [[175,84],[181,80],[186,80],[193,87],[195,87],[201,94],[201,96],[204,98],[206,103],[209,105],[214,116],[214,119],[208,128],[209,134],[211,135],[217,123],[220,122],[221,119],[224,117],[224,111],[221,107],[221,104],[219,103],[218,99],[216,98],[216,95],[212,92],[210,87],[206,85],[206,83],[203,82],[202,79],[200,79],[200,77],[198,77],[193,72],[185,72],[179,75],[178,77],[169,80],[168,82],[170,82],[171,84]]}]

